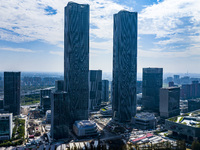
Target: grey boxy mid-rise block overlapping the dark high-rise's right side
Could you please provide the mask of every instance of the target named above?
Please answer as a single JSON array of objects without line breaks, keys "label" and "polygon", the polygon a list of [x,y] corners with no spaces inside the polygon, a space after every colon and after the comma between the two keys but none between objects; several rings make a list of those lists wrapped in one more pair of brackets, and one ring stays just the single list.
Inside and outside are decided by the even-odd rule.
[{"label": "grey boxy mid-rise block overlapping the dark high-rise's right side", "polygon": [[170,118],[180,115],[180,88],[160,89],[160,116]]}]

